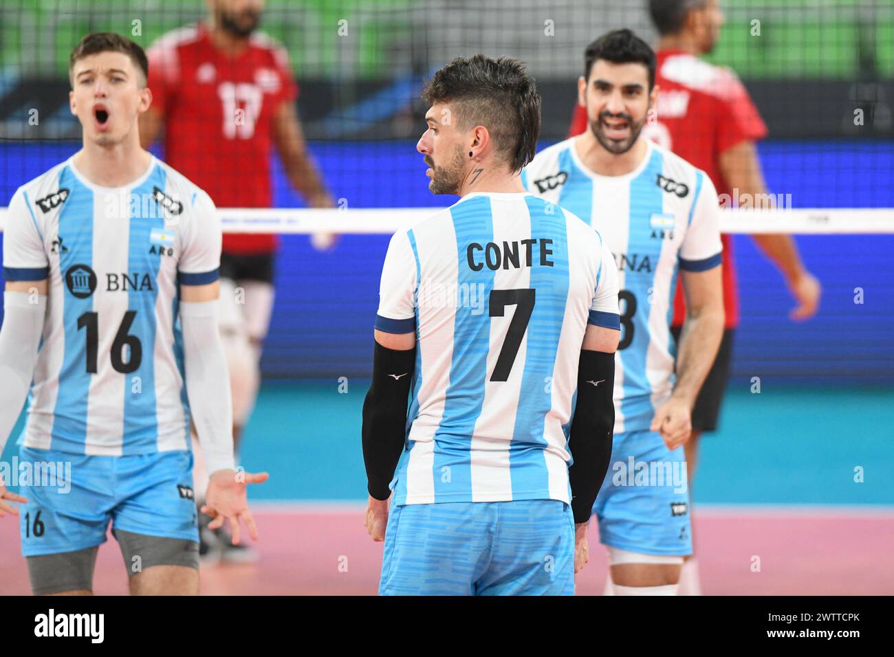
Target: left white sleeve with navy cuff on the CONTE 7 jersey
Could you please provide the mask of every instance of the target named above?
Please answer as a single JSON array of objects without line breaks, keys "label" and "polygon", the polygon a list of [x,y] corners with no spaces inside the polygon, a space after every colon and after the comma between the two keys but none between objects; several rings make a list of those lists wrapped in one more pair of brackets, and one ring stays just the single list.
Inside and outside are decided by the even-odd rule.
[{"label": "left white sleeve with navy cuff on the CONTE 7 jersey", "polygon": [[385,333],[415,331],[417,277],[417,257],[409,241],[409,232],[397,232],[388,244],[382,265],[376,329]]}]

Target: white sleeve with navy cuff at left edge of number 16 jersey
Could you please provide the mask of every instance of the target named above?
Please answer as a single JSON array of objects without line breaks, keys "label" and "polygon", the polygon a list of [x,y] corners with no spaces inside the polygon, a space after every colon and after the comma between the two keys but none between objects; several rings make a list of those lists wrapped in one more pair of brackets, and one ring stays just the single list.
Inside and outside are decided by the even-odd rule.
[{"label": "white sleeve with navy cuff at left edge of number 16 jersey", "polygon": [[17,190],[6,212],[3,240],[3,271],[7,281],[43,281],[49,275],[49,260],[34,208]]}]

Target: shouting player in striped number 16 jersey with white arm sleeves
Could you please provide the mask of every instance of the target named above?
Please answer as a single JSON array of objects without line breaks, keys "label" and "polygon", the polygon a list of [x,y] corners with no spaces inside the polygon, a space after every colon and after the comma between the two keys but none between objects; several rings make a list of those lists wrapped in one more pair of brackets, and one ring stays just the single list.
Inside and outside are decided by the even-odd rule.
[{"label": "shouting player in striped number 16 jersey with white arm sleeves", "polygon": [[[217,329],[220,222],[208,195],[139,146],[147,57],[111,33],[72,52],[83,147],[15,192],[4,233],[0,451],[30,386],[20,495],[35,594],[91,594],[109,521],[131,594],[198,594],[190,417],[212,473],[203,508],[257,536],[233,470]],[[177,321],[179,318],[179,322]],[[31,384],[33,377],[33,384]],[[240,477],[241,478],[241,477]]]}]

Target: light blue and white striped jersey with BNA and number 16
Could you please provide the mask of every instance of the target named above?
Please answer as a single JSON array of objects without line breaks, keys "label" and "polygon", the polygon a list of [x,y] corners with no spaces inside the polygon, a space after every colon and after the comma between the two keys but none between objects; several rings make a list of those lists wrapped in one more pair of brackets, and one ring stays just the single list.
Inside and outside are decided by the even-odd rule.
[{"label": "light blue and white striped jersey with BNA and number 16", "polygon": [[49,283],[24,444],[109,456],[190,449],[178,285],[217,280],[211,199],[155,157],[114,189],[70,158],[19,188],[7,217],[5,279]]}]

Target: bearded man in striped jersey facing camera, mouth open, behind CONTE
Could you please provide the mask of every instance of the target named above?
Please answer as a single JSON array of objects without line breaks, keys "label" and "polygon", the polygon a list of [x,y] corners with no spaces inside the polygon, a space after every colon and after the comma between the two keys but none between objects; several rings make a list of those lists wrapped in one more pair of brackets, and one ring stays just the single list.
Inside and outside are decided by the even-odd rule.
[{"label": "bearded man in striped jersey facing camera, mouth open, behind CONTE", "polygon": [[[652,48],[629,29],[596,39],[578,80],[588,129],[522,172],[529,190],[602,233],[618,264],[612,466],[593,511],[614,591],[626,595],[677,594],[692,551],[680,448],[723,333],[717,193],[704,172],[641,134],[658,97],[654,75]],[[675,377],[669,324],[678,269],[688,313]]]}]

